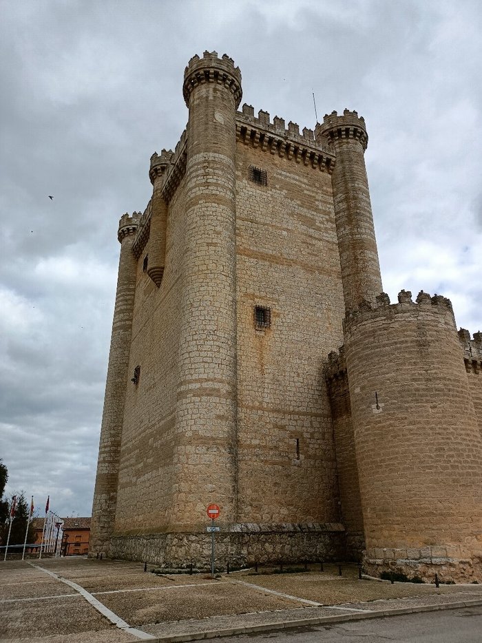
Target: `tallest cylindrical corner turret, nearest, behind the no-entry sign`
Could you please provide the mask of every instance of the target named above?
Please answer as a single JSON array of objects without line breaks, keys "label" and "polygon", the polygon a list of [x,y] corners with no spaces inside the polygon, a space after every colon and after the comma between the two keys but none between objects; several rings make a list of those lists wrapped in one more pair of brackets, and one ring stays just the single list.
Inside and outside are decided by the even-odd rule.
[{"label": "tallest cylindrical corner turret, nearest, behind the no-entry sign", "polygon": [[[234,521],[236,514],[235,113],[242,94],[240,71],[226,55],[194,56],[183,94],[189,125],[174,448],[178,493],[172,520],[193,529],[196,522],[202,525],[202,508],[211,502],[220,505],[221,520]],[[202,457],[199,450],[205,452]],[[199,481],[196,492],[193,479]]]}]

